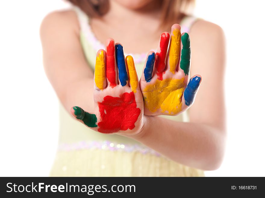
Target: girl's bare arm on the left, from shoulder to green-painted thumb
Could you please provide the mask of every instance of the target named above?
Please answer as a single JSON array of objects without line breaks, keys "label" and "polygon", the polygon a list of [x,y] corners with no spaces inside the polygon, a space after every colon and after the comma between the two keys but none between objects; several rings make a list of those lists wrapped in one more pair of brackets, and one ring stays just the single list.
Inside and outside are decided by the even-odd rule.
[{"label": "girl's bare arm on the left, from shoulder to green-painted thumb", "polygon": [[80,44],[79,25],[73,11],[48,14],[40,36],[45,72],[64,107],[73,104],[94,110],[93,72]]}]

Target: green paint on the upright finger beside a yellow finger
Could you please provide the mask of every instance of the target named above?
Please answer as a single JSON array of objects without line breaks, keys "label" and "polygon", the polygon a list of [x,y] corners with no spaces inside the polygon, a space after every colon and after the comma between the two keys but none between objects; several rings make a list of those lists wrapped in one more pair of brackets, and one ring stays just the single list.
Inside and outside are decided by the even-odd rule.
[{"label": "green paint on the upright finger beside a yellow finger", "polygon": [[184,33],[181,36],[181,42],[183,47],[181,50],[180,68],[184,71],[185,75],[188,75],[191,59],[190,39],[188,33]]}]

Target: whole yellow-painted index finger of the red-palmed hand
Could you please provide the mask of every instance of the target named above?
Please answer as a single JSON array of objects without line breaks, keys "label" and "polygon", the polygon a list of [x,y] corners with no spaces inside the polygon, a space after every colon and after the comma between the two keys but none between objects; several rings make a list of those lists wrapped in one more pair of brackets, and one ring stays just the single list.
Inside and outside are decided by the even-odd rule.
[{"label": "whole yellow-painted index finger of the red-palmed hand", "polygon": [[103,49],[98,50],[94,74],[96,90],[103,90],[107,85],[105,73],[105,56],[106,53]]}]

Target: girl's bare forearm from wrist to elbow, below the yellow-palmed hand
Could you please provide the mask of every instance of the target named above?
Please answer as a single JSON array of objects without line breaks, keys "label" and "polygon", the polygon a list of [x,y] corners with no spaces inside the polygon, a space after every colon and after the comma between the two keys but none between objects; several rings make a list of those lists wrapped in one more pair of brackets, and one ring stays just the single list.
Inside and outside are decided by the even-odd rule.
[{"label": "girl's bare forearm from wrist to elbow, below the yellow-palmed hand", "polygon": [[146,116],[142,131],[131,138],[181,164],[215,170],[222,162],[226,135],[208,124]]}]

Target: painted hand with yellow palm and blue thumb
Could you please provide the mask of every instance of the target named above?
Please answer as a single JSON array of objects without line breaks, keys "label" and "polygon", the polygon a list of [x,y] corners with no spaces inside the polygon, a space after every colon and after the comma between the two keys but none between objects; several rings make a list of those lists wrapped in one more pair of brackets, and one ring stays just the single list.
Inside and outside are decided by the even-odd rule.
[{"label": "painted hand with yellow palm and blue thumb", "polygon": [[180,30],[178,24],[171,27],[171,40],[169,33],[162,33],[157,53],[151,51],[147,55],[139,82],[145,115],[178,115],[194,102],[201,76],[189,80],[190,39]]}]

